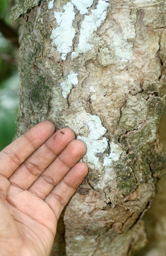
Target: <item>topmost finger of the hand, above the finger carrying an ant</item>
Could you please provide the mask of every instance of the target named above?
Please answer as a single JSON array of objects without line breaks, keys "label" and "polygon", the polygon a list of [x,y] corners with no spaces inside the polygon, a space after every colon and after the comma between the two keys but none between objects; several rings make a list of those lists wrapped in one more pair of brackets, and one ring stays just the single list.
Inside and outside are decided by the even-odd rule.
[{"label": "topmost finger of the hand, above the finger carrying an ant", "polygon": [[0,174],[9,178],[54,132],[55,126],[52,122],[40,122],[5,147],[0,152]]}]

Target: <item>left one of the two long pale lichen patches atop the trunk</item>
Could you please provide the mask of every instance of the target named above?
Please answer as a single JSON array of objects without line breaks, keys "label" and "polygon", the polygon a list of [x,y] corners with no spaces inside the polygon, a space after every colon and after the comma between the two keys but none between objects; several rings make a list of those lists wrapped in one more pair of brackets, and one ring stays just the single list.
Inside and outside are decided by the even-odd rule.
[{"label": "left one of the two long pale lichen patches atop the trunk", "polygon": [[51,39],[53,39],[58,52],[61,53],[61,58],[66,60],[66,56],[72,47],[72,40],[75,37],[75,29],[72,27],[72,22],[75,20],[75,12],[74,5],[71,3],[65,4],[63,9],[64,12],[54,12],[54,17],[59,26],[52,30]]}]

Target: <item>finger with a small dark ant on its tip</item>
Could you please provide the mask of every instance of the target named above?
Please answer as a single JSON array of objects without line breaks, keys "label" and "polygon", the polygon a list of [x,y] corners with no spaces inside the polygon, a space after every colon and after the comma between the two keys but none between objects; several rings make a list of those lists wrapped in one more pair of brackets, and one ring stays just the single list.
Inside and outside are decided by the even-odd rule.
[{"label": "finger with a small dark ant on its tip", "polygon": [[12,185],[22,188],[22,190],[28,190],[51,162],[74,139],[74,131],[69,128],[56,131],[54,135],[19,166],[9,178],[9,181]]}]

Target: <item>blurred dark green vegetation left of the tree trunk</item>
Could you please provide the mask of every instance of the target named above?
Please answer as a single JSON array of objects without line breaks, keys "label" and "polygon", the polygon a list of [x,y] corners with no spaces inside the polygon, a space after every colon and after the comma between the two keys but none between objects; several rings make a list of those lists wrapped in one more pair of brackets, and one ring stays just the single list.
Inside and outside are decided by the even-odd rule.
[{"label": "blurred dark green vegetation left of the tree trunk", "polygon": [[0,151],[12,141],[18,110],[19,19],[10,19],[13,5],[0,1]]}]

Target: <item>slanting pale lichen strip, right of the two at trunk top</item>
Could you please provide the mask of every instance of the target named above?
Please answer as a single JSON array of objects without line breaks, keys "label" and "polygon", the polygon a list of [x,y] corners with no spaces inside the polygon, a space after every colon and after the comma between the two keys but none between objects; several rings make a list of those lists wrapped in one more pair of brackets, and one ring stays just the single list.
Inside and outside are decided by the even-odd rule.
[{"label": "slanting pale lichen strip, right of the two at trunk top", "polygon": [[76,51],[72,52],[72,58],[93,48],[89,40],[93,38],[94,31],[97,31],[97,28],[105,20],[108,6],[107,1],[99,0],[96,9],[91,10],[91,14],[85,15],[81,24],[79,45]]}]

